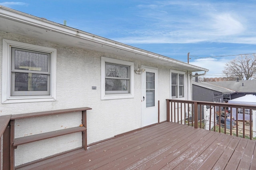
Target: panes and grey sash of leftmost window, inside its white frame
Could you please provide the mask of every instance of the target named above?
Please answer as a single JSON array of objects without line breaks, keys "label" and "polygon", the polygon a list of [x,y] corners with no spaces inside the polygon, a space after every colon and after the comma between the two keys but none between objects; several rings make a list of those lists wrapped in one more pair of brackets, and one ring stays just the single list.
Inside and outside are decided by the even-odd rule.
[{"label": "panes and grey sash of leftmost window, inside its white frame", "polygon": [[50,96],[51,54],[11,47],[10,96]]}]

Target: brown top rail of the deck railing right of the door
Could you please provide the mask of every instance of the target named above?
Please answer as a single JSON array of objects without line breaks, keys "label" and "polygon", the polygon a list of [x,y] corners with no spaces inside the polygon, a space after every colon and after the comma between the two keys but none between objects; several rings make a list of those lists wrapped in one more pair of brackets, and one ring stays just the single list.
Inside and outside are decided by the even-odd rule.
[{"label": "brown top rail of the deck railing right of the door", "polygon": [[169,102],[179,102],[179,103],[188,103],[188,104],[194,104],[194,102],[196,102],[198,105],[233,107],[233,108],[244,108],[244,109],[256,109],[256,106],[247,105],[247,104],[230,104],[230,103],[202,102],[202,101],[176,100],[176,99],[166,99],[166,100],[168,100]]}]

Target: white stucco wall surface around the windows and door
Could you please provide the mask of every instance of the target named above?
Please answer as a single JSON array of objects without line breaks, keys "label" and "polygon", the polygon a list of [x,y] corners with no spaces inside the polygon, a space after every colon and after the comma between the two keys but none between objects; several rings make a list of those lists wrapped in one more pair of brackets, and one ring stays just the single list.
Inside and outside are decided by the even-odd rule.
[{"label": "white stucco wall surface around the windows and door", "polygon": [[[156,100],[160,100],[160,122],[166,120],[166,99],[170,98],[170,68],[4,32],[0,32],[0,65],[2,65],[2,39],[57,49],[57,94],[56,101],[53,102],[0,104],[0,115],[91,107],[92,110],[87,111],[88,144],[140,128],[142,126],[141,74],[134,73],[134,98],[101,100],[101,57],[103,56],[133,62],[134,68],[141,68],[141,65],[158,68],[158,99]],[[2,69],[0,69],[0,79],[2,80]],[[96,90],[92,90],[92,86],[96,86]],[[2,81],[0,81],[0,88],[2,88]],[[2,92],[2,89],[0,92]],[[42,133],[49,129],[75,127],[81,121],[81,114],[52,115],[36,119],[41,121],[39,125],[43,127],[40,131],[33,129],[36,126],[36,124],[33,124],[34,119],[17,120],[15,123],[15,137]],[[66,148],[81,147],[80,134],[48,139],[49,142],[38,141],[18,146],[15,150],[16,165],[32,161],[32,159],[44,158],[49,156],[47,155],[49,153],[63,152]],[[56,142],[59,143],[57,146],[53,146],[56,149],[47,147],[48,143],[52,145]],[[32,153],[32,150],[38,148],[44,149],[42,151],[36,150],[34,154],[39,155],[23,156],[24,153]],[[44,154],[46,152],[47,154]]]}]

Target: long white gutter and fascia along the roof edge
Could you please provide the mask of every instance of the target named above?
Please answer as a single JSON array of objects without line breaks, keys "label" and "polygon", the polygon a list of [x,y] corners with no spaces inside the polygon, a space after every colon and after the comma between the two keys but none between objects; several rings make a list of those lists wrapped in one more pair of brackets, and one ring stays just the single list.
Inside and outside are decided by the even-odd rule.
[{"label": "long white gutter and fascia along the roof edge", "polygon": [[112,41],[110,39],[106,39],[106,38],[103,38],[103,37],[100,37],[100,36],[97,36],[94,34],[90,34],[90,33],[84,32],[84,31],[80,31],[80,30],[74,29],[72,27],[68,27],[65,25],[61,25],[59,23],[55,23],[55,22],[48,21],[48,20],[45,20],[42,18],[38,18],[38,17],[29,15],[29,14],[25,14],[23,12],[12,10],[12,9],[6,8],[4,6],[0,6],[0,16],[3,18],[8,18],[10,20],[19,21],[21,23],[26,23],[28,25],[40,27],[40,28],[46,29],[48,31],[54,31],[54,32],[61,33],[64,35],[76,37],[78,39],[92,41],[92,42],[100,43],[102,45],[107,45],[110,47],[116,47],[118,49],[123,49],[123,50],[137,53],[140,55],[152,57],[154,59],[159,59],[162,61],[179,64],[181,66],[186,66],[186,67],[190,67],[190,68],[194,68],[194,69],[198,69],[198,70],[202,70],[202,71],[209,71],[208,69],[205,69],[205,68],[201,68],[201,67],[187,64],[187,63],[184,63],[184,62],[181,62],[181,61],[169,58],[169,57],[165,57],[165,56],[162,56],[162,55],[159,55],[156,53],[138,49],[136,47],[132,47],[132,46],[129,46],[129,45],[126,45],[123,43],[119,43],[117,41]]}]

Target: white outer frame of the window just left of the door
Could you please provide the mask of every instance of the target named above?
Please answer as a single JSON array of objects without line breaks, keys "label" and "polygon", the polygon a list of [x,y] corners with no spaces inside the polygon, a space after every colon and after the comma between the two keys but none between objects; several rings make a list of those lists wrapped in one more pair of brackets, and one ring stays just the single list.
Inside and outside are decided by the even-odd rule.
[{"label": "white outer frame of the window just left of the door", "polygon": [[[130,67],[130,92],[106,94],[105,92],[105,64],[120,64]],[[101,100],[134,98],[134,63],[108,57],[101,57]]]}]

